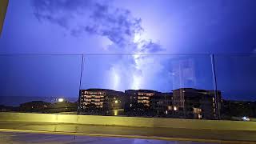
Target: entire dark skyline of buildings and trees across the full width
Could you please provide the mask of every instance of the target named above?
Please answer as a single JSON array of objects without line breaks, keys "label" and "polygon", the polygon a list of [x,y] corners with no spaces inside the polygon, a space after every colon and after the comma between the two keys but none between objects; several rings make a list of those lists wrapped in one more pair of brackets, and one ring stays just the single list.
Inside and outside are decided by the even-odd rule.
[{"label": "entire dark skyline of buildings and trees across the full width", "polygon": [[[254,117],[256,102],[222,98],[221,91],[180,88],[170,92],[157,90],[79,90],[75,101],[58,97],[47,100],[22,98],[17,106],[9,105],[13,98],[0,103],[2,112],[46,114],[85,114],[131,117],[233,119]],[[11,97],[9,97],[11,98]]]}]

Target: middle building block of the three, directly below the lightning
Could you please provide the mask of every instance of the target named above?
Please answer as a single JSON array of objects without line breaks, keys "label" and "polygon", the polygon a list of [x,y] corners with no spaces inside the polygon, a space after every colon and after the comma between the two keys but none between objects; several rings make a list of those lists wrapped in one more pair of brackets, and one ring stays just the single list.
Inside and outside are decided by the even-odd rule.
[{"label": "middle building block of the three, directly below the lightning", "polygon": [[155,90],[126,90],[125,111],[128,115],[166,116],[171,114],[172,93]]}]

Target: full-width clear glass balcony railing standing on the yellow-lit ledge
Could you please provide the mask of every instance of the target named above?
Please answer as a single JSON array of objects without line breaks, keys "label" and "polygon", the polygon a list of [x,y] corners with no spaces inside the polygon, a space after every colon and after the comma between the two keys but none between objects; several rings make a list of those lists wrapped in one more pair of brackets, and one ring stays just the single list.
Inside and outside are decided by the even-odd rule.
[{"label": "full-width clear glass balcony railing standing on the yellow-lit ledge", "polygon": [[0,111],[256,118],[255,55],[0,55]]}]

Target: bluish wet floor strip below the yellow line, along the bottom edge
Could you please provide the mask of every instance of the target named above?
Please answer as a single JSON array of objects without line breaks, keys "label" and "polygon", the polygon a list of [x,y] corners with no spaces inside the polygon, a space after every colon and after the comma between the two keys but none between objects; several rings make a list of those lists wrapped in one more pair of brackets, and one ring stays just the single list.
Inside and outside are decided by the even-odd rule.
[{"label": "bluish wet floor strip below the yellow line, along the bottom edge", "polygon": [[163,141],[154,139],[139,139],[139,138],[103,138],[91,136],[74,136],[60,134],[29,134],[29,133],[0,133],[0,143],[25,144],[25,143],[48,143],[48,144],[211,144],[214,142],[178,142],[178,141]]}]

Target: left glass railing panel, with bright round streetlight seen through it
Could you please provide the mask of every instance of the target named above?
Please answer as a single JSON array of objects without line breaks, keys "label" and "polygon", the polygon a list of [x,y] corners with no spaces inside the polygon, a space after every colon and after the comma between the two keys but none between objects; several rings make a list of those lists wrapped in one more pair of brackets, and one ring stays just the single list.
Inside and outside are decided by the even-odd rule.
[{"label": "left glass railing panel, with bright round streetlight seen through it", "polygon": [[1,55],[0,110],[76,114],[81,55]]}]

